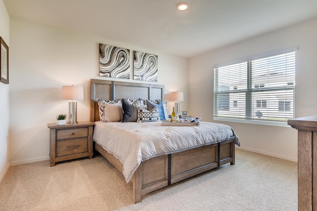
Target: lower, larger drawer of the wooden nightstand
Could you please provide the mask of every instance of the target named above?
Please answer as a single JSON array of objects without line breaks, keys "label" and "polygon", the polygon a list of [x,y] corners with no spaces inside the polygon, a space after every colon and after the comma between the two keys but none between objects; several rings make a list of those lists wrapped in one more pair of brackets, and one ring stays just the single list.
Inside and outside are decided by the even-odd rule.
[{"label": "lower, larger drawer of the wooden nightstand", "polygon": [[56,157],[88,152],[88,138],[57,141]]}]

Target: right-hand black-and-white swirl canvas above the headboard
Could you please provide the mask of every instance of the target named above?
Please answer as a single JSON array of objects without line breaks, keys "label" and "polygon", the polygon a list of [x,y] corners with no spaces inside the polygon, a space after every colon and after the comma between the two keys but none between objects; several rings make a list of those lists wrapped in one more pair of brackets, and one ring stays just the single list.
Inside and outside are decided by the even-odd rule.
[{"label": "right-hand black-and-white swirl canvas above the headboard", "polygon": [[158,56],[134,51],[133,79],[140,81],[158,81]]}]

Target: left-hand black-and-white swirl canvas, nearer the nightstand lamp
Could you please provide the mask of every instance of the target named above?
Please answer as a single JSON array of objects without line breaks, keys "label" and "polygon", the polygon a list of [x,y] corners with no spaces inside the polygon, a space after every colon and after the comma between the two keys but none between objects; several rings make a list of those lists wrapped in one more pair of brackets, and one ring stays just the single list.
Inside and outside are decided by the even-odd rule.
[{"label": "left-hand black-and-white swirl canvas, nearer the nightstand lamp", "polygon": [[130,50],[99,44],[99,76],[130,79]]}]

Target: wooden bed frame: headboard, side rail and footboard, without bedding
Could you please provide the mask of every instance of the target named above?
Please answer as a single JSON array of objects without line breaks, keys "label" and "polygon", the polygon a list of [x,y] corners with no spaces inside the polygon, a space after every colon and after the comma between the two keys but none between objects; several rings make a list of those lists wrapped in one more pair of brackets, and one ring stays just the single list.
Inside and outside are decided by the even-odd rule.
[{"label": "wooden bed frame: headboard, side rail and footboard, without bedding", "polygon": [[[139,84],[91,79],[90,120],[99,121],[99,109],[96,98],[105,100],[162,99],[164,86],[157,84]],[[122,173],[123,164],[95,143],[95,149]],[[217,168],[223,164],[235,162],[234,137],[220,143],[210,144],[183,152],[162,155],[141,163],[135,171],[133,182],[133,202],[141,202],[142,195],[167,185]]]}]

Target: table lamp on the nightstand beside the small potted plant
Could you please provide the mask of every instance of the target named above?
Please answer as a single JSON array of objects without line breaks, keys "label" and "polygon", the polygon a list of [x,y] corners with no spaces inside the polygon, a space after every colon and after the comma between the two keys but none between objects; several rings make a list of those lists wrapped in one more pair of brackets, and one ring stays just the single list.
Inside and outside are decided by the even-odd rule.
[{"label": "table lamp on the nightstand beside the small potted plant", "polygon": [[68,124],[77,124],[77,102],[74,100],[84,99],[84,87],[74,85],[63,85],[62,99],[72,100],[68,103]]}]

